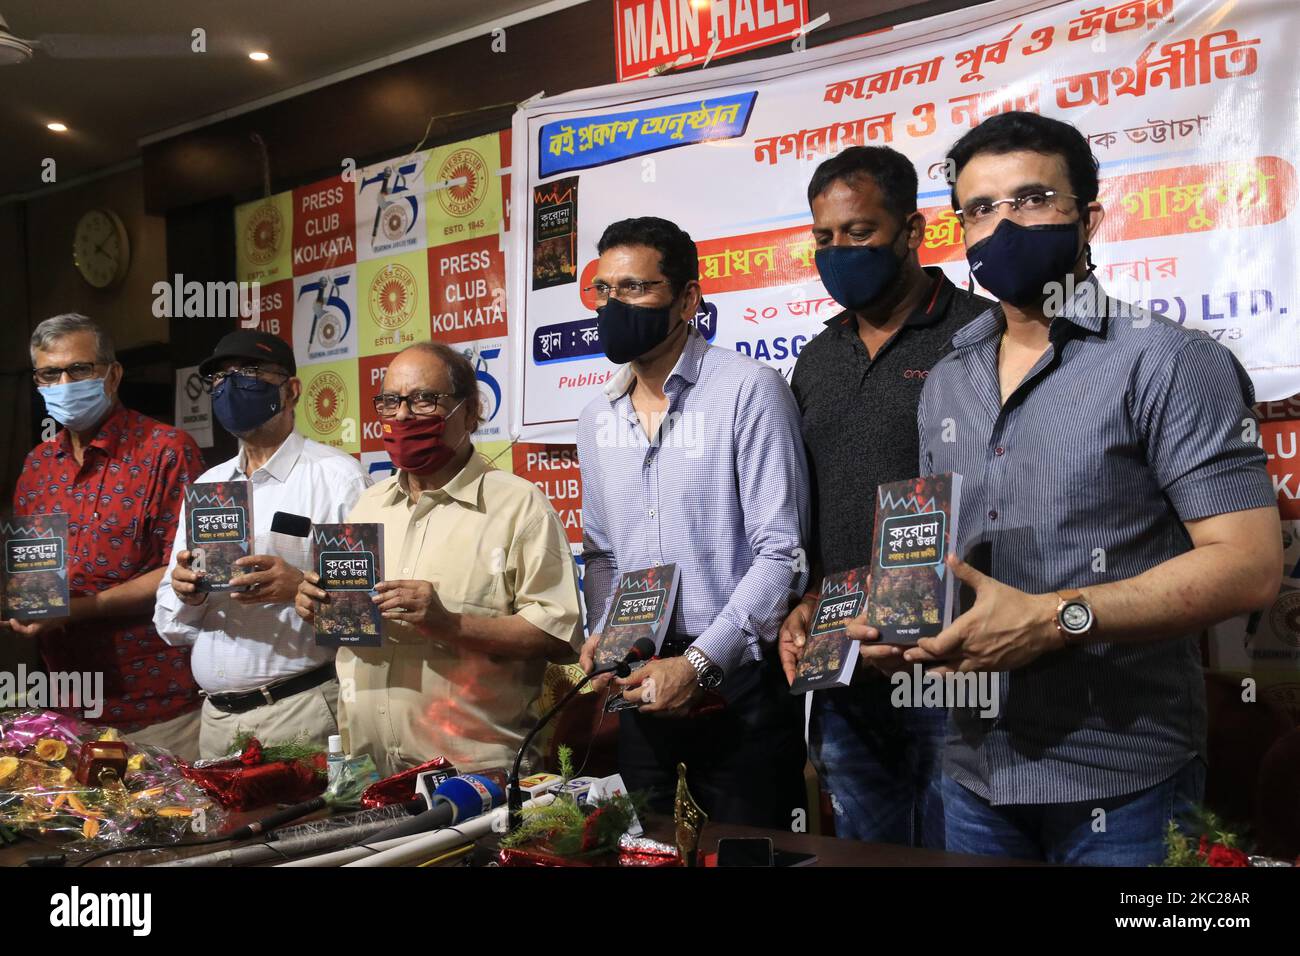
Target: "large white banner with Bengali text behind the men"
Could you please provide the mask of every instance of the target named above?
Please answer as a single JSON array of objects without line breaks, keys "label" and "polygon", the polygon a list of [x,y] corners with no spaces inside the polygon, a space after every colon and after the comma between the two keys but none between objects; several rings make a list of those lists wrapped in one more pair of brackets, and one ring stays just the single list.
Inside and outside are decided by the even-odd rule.
[{"label": "large white banner with Bengali text behind the men", "polygon": [[906,153],[923,265],[967,282],[944,156],[980,120],[1074,124],[1101,165],[1106,289],[1204,329],[1258,398],[1300,392],[1300,18],[1277,0],[988,3],[780,57],[543,98],[514,121],[511,429],[572,442],[614,367],[595,243],[663,216],[696,239],[716,345],[789,375],[838,311],[812,261],[809,177],[852,144]]}]

